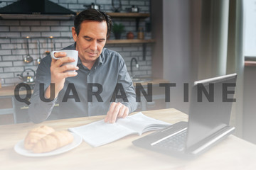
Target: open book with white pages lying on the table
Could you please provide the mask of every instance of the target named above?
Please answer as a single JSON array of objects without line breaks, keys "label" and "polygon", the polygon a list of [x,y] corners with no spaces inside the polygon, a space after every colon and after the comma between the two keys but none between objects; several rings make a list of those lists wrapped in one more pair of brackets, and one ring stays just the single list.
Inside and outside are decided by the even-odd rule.
[{"label": "open book with white pages lying on the table", "polygon": [[127,135],[142,135],[143,132],[159,130],[168,125],[171,124],[149,118],[139,112],[134,115],[129,115],[126,118],[119,118],[116,123],[105,123],[104,120],[99,120],[88,125],[69,128],[68,130],[80,135],[82,139],[92,147],[99,147],[119,140]]}]

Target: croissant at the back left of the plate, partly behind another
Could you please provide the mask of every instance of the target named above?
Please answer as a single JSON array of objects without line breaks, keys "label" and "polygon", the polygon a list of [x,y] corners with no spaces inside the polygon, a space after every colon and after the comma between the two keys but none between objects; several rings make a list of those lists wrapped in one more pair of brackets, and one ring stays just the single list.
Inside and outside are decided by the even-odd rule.
[{"label": "croissant at the back left of the plate, partly behind another", "polygon": [[50,134],[51,132],[54,132],[55,130],[53,128],[50,128],[46,125],[42,125],[38,128],[34,128],[33,130],[30,130],[28,132],[28,135],[26,135],[24,140],[24,147],[26,149],[31,150],[36,143],[41,140],[41,138],[45,137],[46,135]]}]

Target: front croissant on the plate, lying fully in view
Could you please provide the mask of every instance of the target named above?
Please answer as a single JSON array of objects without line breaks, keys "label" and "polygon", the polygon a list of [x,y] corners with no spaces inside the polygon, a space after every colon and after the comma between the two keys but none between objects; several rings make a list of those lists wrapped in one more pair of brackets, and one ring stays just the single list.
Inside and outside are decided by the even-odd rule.
[{"label": "front croissant on the plate, lying fully in view", "polygon": [[33,147],[34,153],[50,152],[73,142],[73,135],[67,130],[55,131],[39,140]]}]

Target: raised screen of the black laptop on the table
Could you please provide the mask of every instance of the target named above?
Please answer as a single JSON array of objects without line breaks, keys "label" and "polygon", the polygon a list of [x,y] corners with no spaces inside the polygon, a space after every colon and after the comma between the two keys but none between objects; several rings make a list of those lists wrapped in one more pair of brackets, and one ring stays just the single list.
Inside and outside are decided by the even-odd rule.
[{"label": "raised screen of the black laptop on the table", "polygon": [[191,93],[186,147],[229,125],[236,74],[196,81]]}]

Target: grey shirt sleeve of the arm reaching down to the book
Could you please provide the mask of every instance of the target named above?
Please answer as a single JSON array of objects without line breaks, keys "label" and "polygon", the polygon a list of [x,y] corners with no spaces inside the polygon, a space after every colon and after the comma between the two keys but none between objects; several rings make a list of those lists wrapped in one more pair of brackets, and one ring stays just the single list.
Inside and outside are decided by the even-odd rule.
[{"label": "grey shirt sleeve of the arm reaching down to the book", "polygon": [[127,67],[126,64],[123,60],[123,58],[121,57],[121,55],[119,55],[120,62],[119,62],[119,75],[118,75],[118,82],[119,84],[122,84],[123,88],[124,88],[124,92],[127,96],[127,102],[125,101],[120,101],[122,104],[124,104],[124,106],[127,106],[129,108],[129,113],[134,112],[137,109],[137,102],[136,102],[136,94],[134,91],[134,86],[132,84],[132,79],[129,76],[129,73],[127,71]]}]

